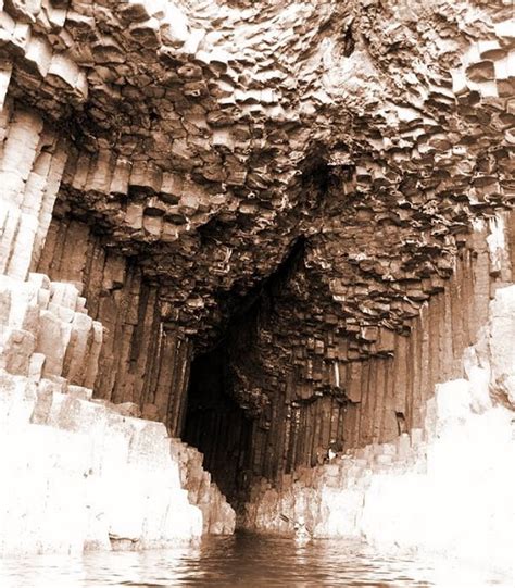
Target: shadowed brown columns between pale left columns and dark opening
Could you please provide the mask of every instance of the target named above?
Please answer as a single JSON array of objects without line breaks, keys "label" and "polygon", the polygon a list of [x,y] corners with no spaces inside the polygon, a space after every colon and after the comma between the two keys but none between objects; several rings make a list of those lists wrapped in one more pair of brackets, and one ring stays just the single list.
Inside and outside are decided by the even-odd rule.
[{"label": "shadowed brown columns between pale left columns and dark opening", "polygon": [[76,284],[103,325],[95,397],[133,402],[178,437],[191,343],[162,320],[159,286],[130,259],[106,250],[86,223],[66,216],[52,220],[37,271]]}]

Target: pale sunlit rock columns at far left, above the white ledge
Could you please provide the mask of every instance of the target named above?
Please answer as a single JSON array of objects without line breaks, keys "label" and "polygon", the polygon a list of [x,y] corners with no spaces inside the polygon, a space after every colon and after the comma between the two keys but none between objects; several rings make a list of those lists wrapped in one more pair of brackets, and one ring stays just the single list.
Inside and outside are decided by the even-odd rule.
[{"label": "pale sunlit rock columns at far left, above the white ledge", "polygon": [[50,225],[65,146],[38,113],[11,101],[0,123],[0,367],[90,388],[101,326],[73,285],[29,273]]}]

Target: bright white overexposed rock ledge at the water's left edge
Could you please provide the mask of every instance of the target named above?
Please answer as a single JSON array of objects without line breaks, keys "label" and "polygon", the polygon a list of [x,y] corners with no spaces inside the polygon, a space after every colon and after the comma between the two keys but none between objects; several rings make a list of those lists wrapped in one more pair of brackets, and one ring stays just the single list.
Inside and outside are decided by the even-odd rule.
[{"label": "bright white overexposed rock ledge at the water's left edge", "polygon": [[0,384],[0,553],[145,549],[201,535],[163,424],[65,383],[3,372]]}]

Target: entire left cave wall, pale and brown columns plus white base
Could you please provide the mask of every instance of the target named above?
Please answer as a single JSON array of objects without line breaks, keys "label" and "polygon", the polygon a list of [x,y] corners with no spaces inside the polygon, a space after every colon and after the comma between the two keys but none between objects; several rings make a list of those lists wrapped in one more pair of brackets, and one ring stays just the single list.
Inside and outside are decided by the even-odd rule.
[{"label": "entire left cave wall, pale and brown columns plus white base", "polygon": [[[70,228],[54,218],[46,241],[66,143],[37,112],[8,101],[2,116],[0,553],[139,550],[231,533],[234,511],[202,455],[179,443],[181,458],[166,427],[135,417],[140,411],[123,396],[128,362],[120,352],[138,340],[155,362],[147,365],[151,355],[133,349],[143,361],[140,378],[150,383],[148,416],[178,414],[167,412],[174,376],[166,358],[181,353],[181,343],[155,321],[155,288],[146,288],[123,258],[105,254],[79,223]],[[126,338],[135,325],[147,340]],[[93,399],[93,388],[104,398]],[[206,480],[201,488],[199,479]]]}]

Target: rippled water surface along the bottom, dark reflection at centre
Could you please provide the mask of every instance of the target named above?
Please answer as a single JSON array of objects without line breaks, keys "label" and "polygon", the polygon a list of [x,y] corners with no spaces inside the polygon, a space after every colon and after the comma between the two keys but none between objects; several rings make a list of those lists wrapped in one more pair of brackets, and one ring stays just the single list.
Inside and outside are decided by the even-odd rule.
[{"label": "rippled water surface along the bottom, dark reflection at centre", "polygon": [[512,586],[494,573],[385,558],[356,542],[253,534],[213,537],[199,546],[146,552],[96,552],[83,558],[39,555],[0,561],[2,588],[165,586]]}]

